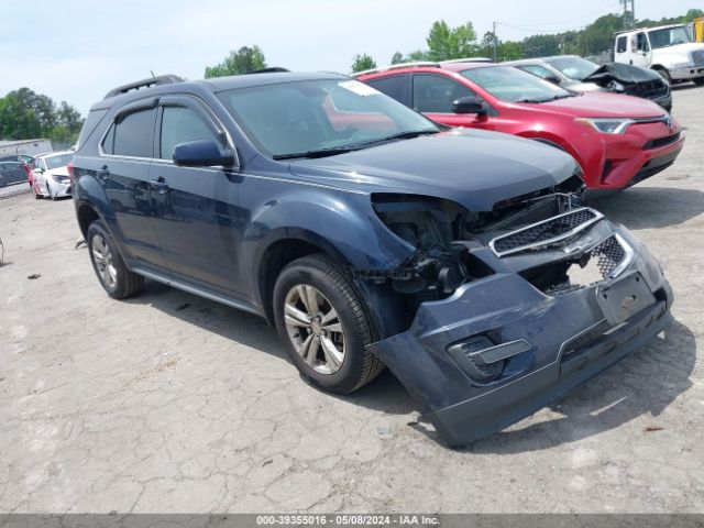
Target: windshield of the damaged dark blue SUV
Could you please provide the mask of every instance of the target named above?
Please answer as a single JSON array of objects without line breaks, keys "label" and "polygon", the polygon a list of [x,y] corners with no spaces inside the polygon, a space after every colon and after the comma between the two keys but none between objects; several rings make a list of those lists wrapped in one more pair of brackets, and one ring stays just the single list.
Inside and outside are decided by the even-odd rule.
[{"label": "windshield of the damaged dark blue SUV", "polygon": [[226,91],[220,98],[256,146],[275,158],[337,154],[439,130],[356,80],[256,86]]}]

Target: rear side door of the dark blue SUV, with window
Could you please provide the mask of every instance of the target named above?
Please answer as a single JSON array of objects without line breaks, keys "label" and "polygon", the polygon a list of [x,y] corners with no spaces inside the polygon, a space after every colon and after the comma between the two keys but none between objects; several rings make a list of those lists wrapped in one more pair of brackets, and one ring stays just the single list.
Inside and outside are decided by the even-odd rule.
[{"label": "rear side door of the dark blue SUV, with window", "polygon": [[114,117],[91,173],[100,180],[113,218],[107,219],[131,267],[162,267],[150,205],[148,169],[154,155],[154,100],[139,101]]}]

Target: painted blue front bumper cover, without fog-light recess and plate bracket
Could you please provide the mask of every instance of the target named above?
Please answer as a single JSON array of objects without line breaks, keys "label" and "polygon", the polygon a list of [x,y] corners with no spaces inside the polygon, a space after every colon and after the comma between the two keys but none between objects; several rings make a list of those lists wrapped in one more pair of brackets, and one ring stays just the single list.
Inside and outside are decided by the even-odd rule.
[{"label": "painted blue front bumper cover, without fog-light recess and plate bracket", "polygon": [[[407,332],[373,345],[446,443],[471,443],[535,413],[668,326],[673,297],[660,266],[627,232],[616,232],[636,253],[618,277],[551,296],[516,273],[497,273],[448,299],[425,302]],[[645,279],[652,301],[612,324],[597,293],[632,274]],[[498,378],[481,383],[448,352],[476,336],[496,344],[522,340],[529,349],[507,360]]]}]

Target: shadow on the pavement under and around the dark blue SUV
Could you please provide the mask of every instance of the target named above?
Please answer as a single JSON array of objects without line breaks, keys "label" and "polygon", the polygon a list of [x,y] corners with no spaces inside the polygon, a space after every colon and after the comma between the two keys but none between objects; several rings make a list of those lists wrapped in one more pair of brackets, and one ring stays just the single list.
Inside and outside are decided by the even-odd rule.
[{"label": "shadow on the pavement under and around the dark blue SUV", "polygon": [[[233,342],[290,363],[276,331],[264,319],[147,280],[144,293],[129,302],[152,307],[188,323],[216,332]],[[663,338],[634,352],[551,407],[551,418],[504,430],[460,451],[512,453],[548,449],[619,427],[644,414],[657,416],[690,386],[696,344],[684,324],[674,322]],[[292,374],[295,366],[292,364]],[[302,378],[301,378],[301,383]],[[409,415],[421,406],[388,370],[351,395],[327,395],[353,405]],[[552,418],[553,415],[557,415]],[[424,424],[411,427],[442,443]]]}]

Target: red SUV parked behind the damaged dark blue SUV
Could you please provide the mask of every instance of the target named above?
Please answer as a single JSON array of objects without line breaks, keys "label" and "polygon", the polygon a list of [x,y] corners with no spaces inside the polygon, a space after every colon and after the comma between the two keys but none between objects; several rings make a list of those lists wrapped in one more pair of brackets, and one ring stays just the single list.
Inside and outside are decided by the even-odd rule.
[{"label": "red SUV parked behind the damaged dark blue SUV", "polygon": [[680,125],[651,101],[568,91],[512,66],[421,63],[358,78],[442,124],[562,148],[595,190],[623,189],[666,169],[684,143]]}]

